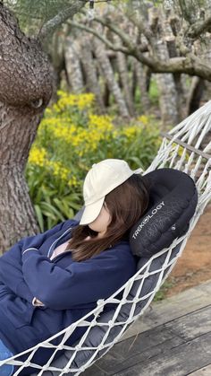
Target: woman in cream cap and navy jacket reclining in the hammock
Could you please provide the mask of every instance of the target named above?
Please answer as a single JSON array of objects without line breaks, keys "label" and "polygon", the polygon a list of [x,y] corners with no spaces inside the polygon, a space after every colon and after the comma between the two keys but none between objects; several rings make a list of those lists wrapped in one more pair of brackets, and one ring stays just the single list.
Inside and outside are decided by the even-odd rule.
[{"label": "woman in cream cap and navy jacket reclining in the hammock", "polygon": [[[80,223],[67,220],[24,238],[0,258],[1,360],[68,327],[136,272],[128,236],[148,207],[148,188],[139,171],[122,160],[94,164],[83,196]],[[67,344],[85,330],[76,328]],[[41,350],[39,364],[52,351]],[[9,364],[0,369],[4,376],[13,372]]]}]

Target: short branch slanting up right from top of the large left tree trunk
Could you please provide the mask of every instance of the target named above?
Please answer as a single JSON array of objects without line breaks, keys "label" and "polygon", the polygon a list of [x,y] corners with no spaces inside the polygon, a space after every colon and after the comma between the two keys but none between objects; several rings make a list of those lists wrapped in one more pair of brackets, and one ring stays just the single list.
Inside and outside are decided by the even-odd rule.
[{"label": "short branch slanting up right from top of the large left tree trunk", "polygon": [[89,0],[72,1],[71,6],[55,15],[51,20],[47,21],[41,28],[38,34],[38,39],[43,41],[50,34],[53,34],[55,29],[60,26],[68,18],[73,17],[75,13],[80,12],[81,8],[88,3]]}]

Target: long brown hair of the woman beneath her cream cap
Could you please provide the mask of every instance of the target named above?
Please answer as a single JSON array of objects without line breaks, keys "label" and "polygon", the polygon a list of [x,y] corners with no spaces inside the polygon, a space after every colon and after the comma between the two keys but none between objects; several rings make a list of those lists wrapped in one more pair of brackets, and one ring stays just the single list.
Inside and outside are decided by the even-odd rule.
[{"label": "long brown hair of the woman beneath her cream cap", "polygon": [[[105,196],[105,204],[111,214],[111,223],[103,238],[88,225],[78,225],[72,230],[67,249],[72,259],[82,261],[114,246],[119,240],[128,239],[131,227],[139,221],[148,207],[148,182],[141,175],[133,174],[120,186]],[[90,240],[85,240],[90,236]]]}]

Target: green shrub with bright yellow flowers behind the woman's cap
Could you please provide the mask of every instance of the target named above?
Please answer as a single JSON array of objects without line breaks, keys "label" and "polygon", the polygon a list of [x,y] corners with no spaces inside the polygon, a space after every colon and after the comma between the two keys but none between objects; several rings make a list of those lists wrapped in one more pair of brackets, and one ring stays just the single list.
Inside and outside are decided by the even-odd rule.
[{"label": "green shrub with bright yellow flowers behind the woman's cap", "polygon": [[146,169],[160,145],[153,118],[115,126],[114,117],[95,113],[94,94],[58,95],[39,125],[26,169],[41,231],[80,209],[83,179],[93,163],[119,158],[132,169]]}]

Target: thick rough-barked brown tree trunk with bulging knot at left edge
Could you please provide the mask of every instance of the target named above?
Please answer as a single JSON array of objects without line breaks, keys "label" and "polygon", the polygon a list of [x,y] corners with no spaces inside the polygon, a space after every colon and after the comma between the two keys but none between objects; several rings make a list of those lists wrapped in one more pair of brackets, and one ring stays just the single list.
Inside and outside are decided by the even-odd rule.
[{"label": "thick rough-barked brown tree trunk with bulging knot at left edge", "polygon": [[24,169],[52,92],[52,75],[37,40],[27,38],[0,3],[0,251],[38,225]]}]

